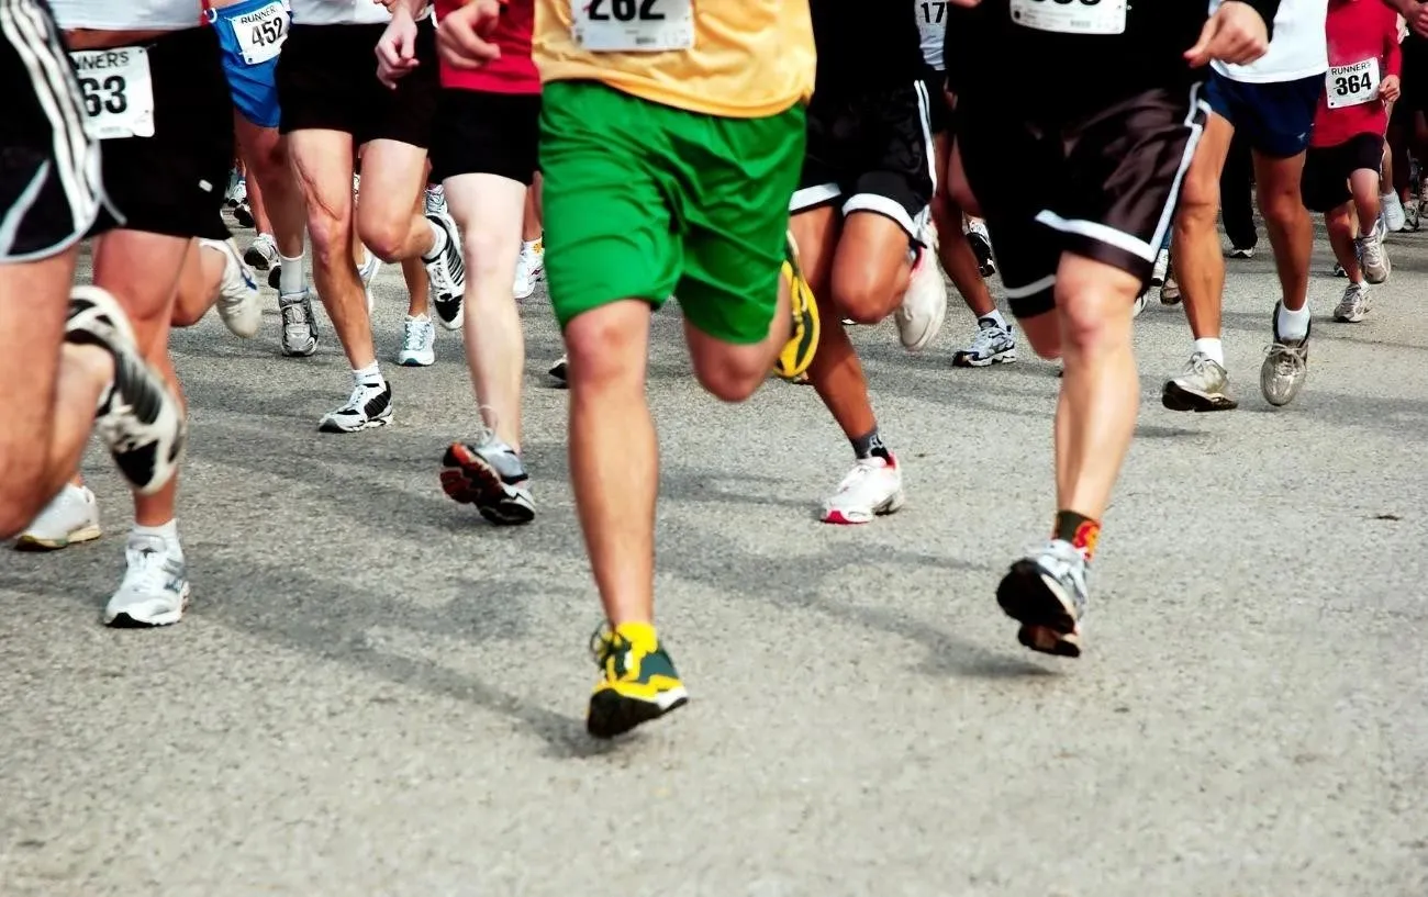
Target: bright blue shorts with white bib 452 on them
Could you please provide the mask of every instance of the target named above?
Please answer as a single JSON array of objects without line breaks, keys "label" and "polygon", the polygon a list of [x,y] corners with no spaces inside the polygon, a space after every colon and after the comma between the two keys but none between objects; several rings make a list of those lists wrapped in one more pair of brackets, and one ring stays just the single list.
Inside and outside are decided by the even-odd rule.
[{"label": "bright blue shorts with white bib 452 on them", "polygon": [[234,109],[258,127],[277,127],[281,119],[277,51],[288,29],[283,1],[243,0],[210,16],[223,47],[223,71],[228,76]]}]

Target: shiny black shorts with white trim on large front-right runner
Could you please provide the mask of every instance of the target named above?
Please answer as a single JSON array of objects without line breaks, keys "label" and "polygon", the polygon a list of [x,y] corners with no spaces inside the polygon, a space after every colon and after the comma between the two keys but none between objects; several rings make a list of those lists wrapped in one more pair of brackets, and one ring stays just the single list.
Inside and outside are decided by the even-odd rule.
[{"label": "shiny black shorts with white trim on large front-right runner", "polygon": [[967,99],[958,114],[962,166],[1014,314],[1055,307],[1062,253],[1150,281],[1210,114],[1198,84],[1068,121],[1027,121],[1001,97]]}]

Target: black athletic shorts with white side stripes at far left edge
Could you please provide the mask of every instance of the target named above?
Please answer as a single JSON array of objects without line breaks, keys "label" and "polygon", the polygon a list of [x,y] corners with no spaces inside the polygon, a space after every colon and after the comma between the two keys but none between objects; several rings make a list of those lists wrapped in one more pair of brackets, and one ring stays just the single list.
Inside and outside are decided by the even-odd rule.
[{"label": "black athletic shorts with white side stripes at far left edge", "polygon": [[116,224],[44,0],[0,0],[0,263],[47,259]]}]

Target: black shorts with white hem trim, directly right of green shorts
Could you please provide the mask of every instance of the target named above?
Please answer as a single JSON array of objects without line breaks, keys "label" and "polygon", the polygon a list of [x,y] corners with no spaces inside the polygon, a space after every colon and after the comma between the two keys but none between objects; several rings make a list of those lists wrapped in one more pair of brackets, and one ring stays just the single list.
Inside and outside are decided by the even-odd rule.
[{"label": "black shorts with white hem trim, directly right of green shorts", "polygon": [[875,211],[920,240],[918,219],[937,186],[928,106],[922,81],[845,97],[814,94],[803,176],[788,211],[838,203],[844,216]]}]

